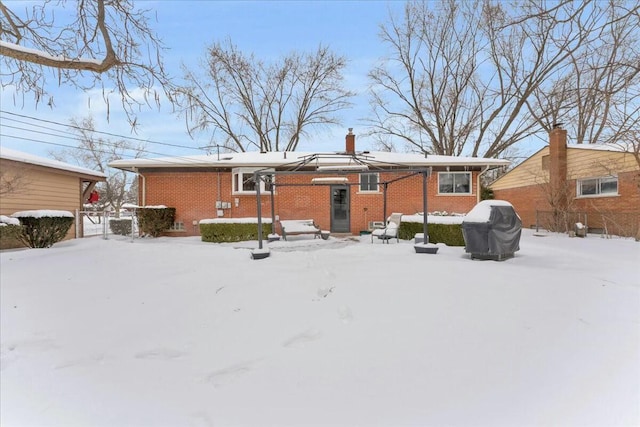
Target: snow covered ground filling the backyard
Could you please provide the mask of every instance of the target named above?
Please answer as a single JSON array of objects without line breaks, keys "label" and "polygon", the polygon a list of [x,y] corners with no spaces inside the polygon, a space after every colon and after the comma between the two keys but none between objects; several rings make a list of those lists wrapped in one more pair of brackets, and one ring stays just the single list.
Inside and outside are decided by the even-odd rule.
[{"label": "snow covered ground filling the backyard", "polygon": [[0,254],[3,426],[640,424],[640,244],[110,236]]}]

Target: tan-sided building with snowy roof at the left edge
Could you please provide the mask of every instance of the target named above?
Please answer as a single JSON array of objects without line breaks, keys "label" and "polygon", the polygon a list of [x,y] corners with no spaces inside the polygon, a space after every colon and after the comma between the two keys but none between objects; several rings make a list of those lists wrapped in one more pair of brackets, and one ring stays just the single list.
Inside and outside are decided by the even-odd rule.
[{"label": "tan-sided building with snowy roof at the left edge", "polygon": [[[105,175],[91,169],[0,147],[0,215],[26,210],[82,210]],[[79,234],[79,235],[77,235]],[[66,238],[82,237],[71,227]]]}]

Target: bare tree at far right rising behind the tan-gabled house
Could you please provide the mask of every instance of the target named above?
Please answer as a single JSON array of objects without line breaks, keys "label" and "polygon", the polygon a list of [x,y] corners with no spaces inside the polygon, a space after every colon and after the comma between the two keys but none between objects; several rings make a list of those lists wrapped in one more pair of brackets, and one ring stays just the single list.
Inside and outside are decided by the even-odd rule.
[{"label": "bare tree at far right rising behind the tan-gabled house", "polygon": [[[527,101],[546,130],[562,122],[573,142],[632,142],[640,127],[640,5],[592,5],[599,25],[568,58],[567,73],[541,84]],[[636,131],[637,133],[637,131]]]}]

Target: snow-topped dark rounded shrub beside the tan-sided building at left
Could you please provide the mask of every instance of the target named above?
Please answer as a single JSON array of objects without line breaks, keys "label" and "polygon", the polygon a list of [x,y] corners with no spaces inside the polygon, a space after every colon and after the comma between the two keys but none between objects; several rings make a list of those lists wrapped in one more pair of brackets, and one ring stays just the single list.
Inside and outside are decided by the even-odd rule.
[{"label": "snow-topped dark rounded shrub beside the tan-sided building at left", "polygon": [[73,224],[73,214],[67,211],[23,211],[12,216],[20,220],[20,241],[30,248],[50,248]]}]

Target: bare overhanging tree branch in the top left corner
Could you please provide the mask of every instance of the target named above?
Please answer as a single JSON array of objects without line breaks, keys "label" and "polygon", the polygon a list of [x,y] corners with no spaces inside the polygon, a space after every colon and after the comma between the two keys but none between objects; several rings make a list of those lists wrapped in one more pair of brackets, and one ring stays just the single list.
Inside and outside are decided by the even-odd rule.
[{"label": "bare overhanging tree branch in the top left corner", "polygon": [[[2,87],[32,93],[36,103],[51,106],[52,79],[83,90],[101,87],[107,105],[116,91],[135,126],[134,108],[157,105],[156,85],[169,83],[149,14],[131,0],[46,0],[12,8],[0,1]],[[142,99],[134,89],[142,89]]]}]

